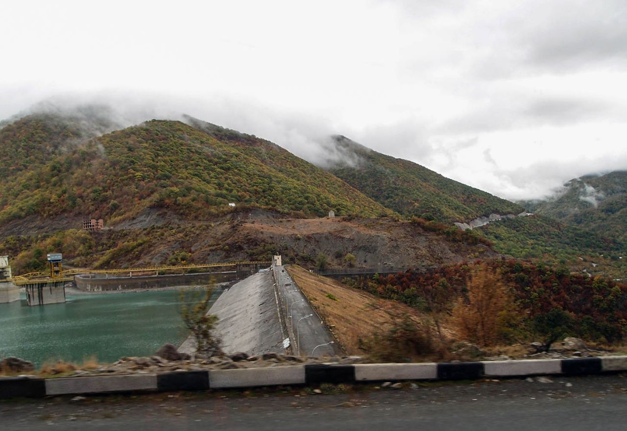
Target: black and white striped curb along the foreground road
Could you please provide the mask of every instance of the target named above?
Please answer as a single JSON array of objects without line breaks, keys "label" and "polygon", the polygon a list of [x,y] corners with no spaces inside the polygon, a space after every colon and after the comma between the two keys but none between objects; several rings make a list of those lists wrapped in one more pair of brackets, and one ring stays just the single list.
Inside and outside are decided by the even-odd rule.
[{"label": "black and white striped curb along the foreground road", "polygon": [[159,374],[65,378],[0,378],[0,398],[86,393],[172,392],[280,385],[403,380],[476,380],[534,375],[589,375],[627,371],[627,356],[458,363],[317,364],[173,371]]}]

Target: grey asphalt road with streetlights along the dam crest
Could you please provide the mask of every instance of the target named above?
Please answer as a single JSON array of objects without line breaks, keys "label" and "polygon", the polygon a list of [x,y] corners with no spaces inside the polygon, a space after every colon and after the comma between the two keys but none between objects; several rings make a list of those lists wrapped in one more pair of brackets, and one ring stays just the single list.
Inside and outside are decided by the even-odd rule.
[{"label": "grey asphalt road with streetlights along the dam crest", "polygon": [[298,354],[298,343],[300,343],[301,356],[334,356],[339,354],[341,352],[339,346],[325,345],[334,341],[333,336],[327,330],[327,326],[315,314],[300,289],[296,287],[285,266],[277,266],[277,276],[281,293],[287,304],[285,314],[288,326],[293,333],[293,339],[297,341],[292,346],[294,354]]}]

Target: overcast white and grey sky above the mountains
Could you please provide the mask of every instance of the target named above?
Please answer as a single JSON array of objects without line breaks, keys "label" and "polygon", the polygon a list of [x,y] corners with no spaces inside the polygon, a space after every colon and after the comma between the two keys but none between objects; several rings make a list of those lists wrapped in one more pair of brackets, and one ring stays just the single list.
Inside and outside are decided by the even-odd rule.
[{"label": "overcast white and grey sky above the mountains", "polygon": [[21,0],[1,12],[0,118],[50,96],[113,100],[312,161],[340,133],[508,199],[627,169],[625,0]]}]

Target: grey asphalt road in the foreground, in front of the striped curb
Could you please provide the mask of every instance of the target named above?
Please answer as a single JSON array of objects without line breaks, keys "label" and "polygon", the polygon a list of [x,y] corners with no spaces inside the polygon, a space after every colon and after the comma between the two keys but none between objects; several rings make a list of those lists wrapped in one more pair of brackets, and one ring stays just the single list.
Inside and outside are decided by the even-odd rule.
[{"label": "grey asphalt road in the foreground, in front of the striped curb", "polygon": [[[627,378],[552,378],[357,385],[332,395],[305,388],[0,402],[9,430],[568,430],[627,428]],[[568,384],[572,385],[569,386]]]}]

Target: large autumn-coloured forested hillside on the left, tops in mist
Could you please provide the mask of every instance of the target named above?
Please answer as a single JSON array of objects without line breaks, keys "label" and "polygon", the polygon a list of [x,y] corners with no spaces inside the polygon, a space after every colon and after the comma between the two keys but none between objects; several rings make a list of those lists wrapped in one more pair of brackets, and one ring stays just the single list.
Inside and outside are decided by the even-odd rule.
[{"label": "large autumn-coloured forested hillside on the left, tops in mist", "polygon": [[110,224],[147,208],[198,219],[233,210],[230,202],[301,216],[392,214],[286,150],[238,136],[152,120],[85,142],[65,118],[23,118],[0,130],[11,152],[0,164],[0,222],[63,214]]}]

